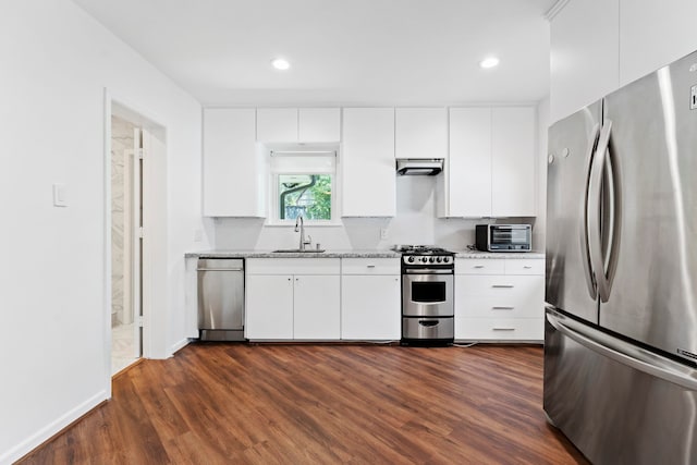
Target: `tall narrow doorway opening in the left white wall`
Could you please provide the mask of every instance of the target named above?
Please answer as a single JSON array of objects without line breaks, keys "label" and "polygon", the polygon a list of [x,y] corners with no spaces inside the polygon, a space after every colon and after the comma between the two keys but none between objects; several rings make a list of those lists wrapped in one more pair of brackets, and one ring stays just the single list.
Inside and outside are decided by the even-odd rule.
[{"label": "tall narrow doorway opening in the left white wall", "polygon": [[111,375],[143,355],[143,129],[111,114]]}]

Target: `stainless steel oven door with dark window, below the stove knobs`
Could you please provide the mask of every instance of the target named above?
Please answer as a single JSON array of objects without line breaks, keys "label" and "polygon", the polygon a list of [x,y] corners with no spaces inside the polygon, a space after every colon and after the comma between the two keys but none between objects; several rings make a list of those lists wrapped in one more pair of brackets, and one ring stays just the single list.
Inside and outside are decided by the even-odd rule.
[{"label": "stainless steel oven door with dark window, below the stove knobs", "polygon": [[452,317],[452,273],[402,276],[402,315],[405,317]]}]

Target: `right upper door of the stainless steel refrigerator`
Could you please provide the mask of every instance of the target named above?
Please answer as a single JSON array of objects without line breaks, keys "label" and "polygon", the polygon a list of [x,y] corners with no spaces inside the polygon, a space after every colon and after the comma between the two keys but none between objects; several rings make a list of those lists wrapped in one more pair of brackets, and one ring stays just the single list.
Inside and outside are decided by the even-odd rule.
[{"label": "right upper door of the stainless steel refrigerator", "polygon": [[[606,99],[614,266],[600,325],[697,358],[697,52]],[[690,109],[692,108],[692,109]],[[613,264],[613,258],[616,262]],[[687,353],[685,353],[687,352]]]}]

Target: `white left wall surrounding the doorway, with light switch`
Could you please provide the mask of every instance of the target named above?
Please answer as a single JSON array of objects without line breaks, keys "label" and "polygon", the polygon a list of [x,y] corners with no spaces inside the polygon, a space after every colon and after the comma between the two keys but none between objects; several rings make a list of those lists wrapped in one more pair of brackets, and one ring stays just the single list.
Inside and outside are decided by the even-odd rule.
[{"label": "white left wall surrounding the doorway, with light switch", "polygon": [[[105,88],[167,130],[168,356],[184,340],[184,252],[200,220],[200,106],[68,0],[0,14],[0,463],[105,400]],[[52,183],[68,186],[52,206]],[[155,329],[157,331],[157,329]],[[161,331],[161,329],[160,329]]]}]

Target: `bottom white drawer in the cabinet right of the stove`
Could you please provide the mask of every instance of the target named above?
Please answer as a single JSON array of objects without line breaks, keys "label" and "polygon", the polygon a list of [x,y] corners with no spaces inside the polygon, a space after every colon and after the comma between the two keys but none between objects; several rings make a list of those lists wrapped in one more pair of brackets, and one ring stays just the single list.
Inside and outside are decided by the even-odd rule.
[{"label": "bottom white drawer in the cabinet right of the stove", "polygon": [[542,341],[542,318],[457,318],[455,340]]}]

